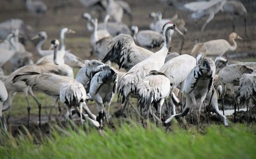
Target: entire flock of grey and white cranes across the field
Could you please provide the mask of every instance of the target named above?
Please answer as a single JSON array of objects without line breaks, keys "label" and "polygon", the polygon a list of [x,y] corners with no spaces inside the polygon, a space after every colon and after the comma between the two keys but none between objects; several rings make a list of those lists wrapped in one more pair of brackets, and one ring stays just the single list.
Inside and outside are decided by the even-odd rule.
[{"label": "entire flock of grey and white cranes across the field", "polygon": [[[98,13],[105,11],[104,21],[101,23],[89,13],[82,14],[88,31],[92,32],[90,52],[96,52],[99,60],[84,61],[66,50],[66,34],[75,33],[69,28],[62,28],[60,31],[60,48],[59,41],[53,39],[50,49],[43,50],[41,47],[47,40],[46,32],[39,32],[32,37],[31,26],[20,19],[0,23],[0,37],[4,40],[0,43],[0,67],[7,62],[14,66],[12,73],[4,75],[4,71],[1,71],[0,76],[2,129],[7,128],[2,112],[11,109],[17,92],[24,92],[26,96],[28,124],[31,109],[28,95],[38,104],[39,125],[41,124],[41,103],[33,90],[51,96],[50,118],[53,108],[57,114],[58,102],[61,102],[66,106],[66,123],[77,114],[82,126],[83,121],[87,120],[98,129],[103,127],[104,119],[109,124],[111,101],[116,93],[121,99],[124,116],[127,116],[131,106],[142,123],[147,119],[146,122],[152,120],[156,125],[169,126],[173,118],[189,114],[191,119],[196,117],[199,129],[203,105],[213,108],[213,112],[228,126],[224,115],[224,98],[228,87],[234,101],[234,120],[239,103],[245,102],[247,120],[250,120],[252,99],[256,100],[256,62],[228,62],[222,57],[226,51],[237,48],[235,40],[242,40],[237,33],[230,34],[229,42],[217,39],[197,43],[190,55],[181,55],[187,29],[184,20],[178,18],[178,15],[162,19],[161,12],[152,12],[150,30],[139,31],[138,26],[133,25],[130,29],[122,22],[123,13],[132,19],[131,8],[124,1],[79,2]],[[173,3],[179,9],[193,11],[191,17],[194,19],[209,16],[202,26],[202,33],[206,24],[220,10],[225,10],[231,17],[240,13],[245,16],[247,13],[239,1],[210,0],[184,5],[176,1]],[[26,7],[35,16],[41,16],[47,11],[44,2],[37,0],[26,0]],[[181,38],[179,54],[169,52],[173,36]],[[33,63],[31,53],[24,46],[28,39],[38,39],[35,52],[41,58],[36,63]],[[161,49],[157,52],[151,51],[151,48],[158,47]],[[111,62],[127,72],[115,69]],[[75,77],[74,67],[80,68]],[[237,92],[234,91],[234,86],[239,86]],[[133,105],[132,97],[138,98],[138,107]],[[219,111],[218,97],[222,99],[223,114]],[[88,100],[95,101],[97,116],[89,110]],[[204,112],[207,117],[206,109]]]}]

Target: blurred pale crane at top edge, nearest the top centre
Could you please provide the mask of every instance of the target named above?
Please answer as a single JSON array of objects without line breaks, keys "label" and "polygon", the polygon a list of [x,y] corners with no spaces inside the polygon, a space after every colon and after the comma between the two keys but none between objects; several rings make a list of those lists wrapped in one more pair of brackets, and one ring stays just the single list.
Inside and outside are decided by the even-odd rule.
[{"label": "blurred pale crane at top edge, nearest the top centre", "polygon": [[110,15],[115,22],[122,22],[123,8],[114,0],[107,0],[106,14]]}]

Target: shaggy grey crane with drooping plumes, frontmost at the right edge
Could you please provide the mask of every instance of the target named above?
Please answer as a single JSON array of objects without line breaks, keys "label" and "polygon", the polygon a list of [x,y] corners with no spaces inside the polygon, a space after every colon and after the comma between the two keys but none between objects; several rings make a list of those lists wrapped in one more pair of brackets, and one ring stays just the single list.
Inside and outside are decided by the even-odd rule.
[{"label": "shaggy grey crane with drooping plumes, frontmost at the right edge", "polygon": [[[239,80],[238,94],[236,95],[236,102],[244,104],[246,102],[246,120],[250,121],[252,102],[251,99],[256,99],[256,73],[244,73]],[[235,108],[236,109],[236,108]],[[234,110],[234,121],[236,119],[236,110]]]}]

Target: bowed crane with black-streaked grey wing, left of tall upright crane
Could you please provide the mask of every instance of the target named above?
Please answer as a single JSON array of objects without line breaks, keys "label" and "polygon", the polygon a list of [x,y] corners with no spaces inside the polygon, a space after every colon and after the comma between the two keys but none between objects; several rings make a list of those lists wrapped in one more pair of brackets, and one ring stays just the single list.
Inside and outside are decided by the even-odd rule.
[{"label": "bowed crane with black-streaked grey wing, left of tall upright crane", "polygon": [[[98,107],[99,114],[96,120],[99,122],[100,127],[103,126],[103,117],[106,113],[104,111],[105,102],[108,103],[108,115],[106,115],[106,121],[109,120],[110,104],[116,93],[117,89],[117,73],[109,65],[97,72],[91,79],[89,99],[93,99]],[[109,123],[109,122],[108,122]]]}]

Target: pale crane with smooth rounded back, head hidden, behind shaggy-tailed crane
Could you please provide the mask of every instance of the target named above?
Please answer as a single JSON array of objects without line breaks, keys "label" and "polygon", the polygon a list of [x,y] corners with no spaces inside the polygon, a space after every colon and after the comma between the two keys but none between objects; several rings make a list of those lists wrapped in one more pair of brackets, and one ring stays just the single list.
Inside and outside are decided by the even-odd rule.
[{"label": "pale crane with smooth rounded back, head hidden, behind shaggy-tailed crane", "polygon": [[196,65],[197,63],[194,57],[184,54],[167,61],[160,69],[160,72],[166,74],[167,78],[170,81],[169,106],[173,106],[172,112],[174,114],[176,114],[176,111],[175,105],[172,104],[173,91],[176,87],[178,87],[178,85],[180,86],[179,89],[182,90],[184,88],[188,74]]}]

